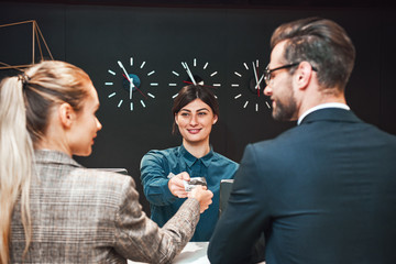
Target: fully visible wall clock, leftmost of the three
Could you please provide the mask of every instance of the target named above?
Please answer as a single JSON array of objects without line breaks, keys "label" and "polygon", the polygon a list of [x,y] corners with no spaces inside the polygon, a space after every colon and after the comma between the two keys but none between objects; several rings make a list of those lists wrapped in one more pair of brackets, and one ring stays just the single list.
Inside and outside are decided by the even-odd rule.
[{"label": "fully visible wall clock, leftmost of the three", "polygon": [[150,69],[146,62],[136,62],[133,57],[112,63],[107,70],[105,86],[109,88],[108,99],[117,108],[133,111],[146,108],[147,102],[155,99],[155,88],[158,82],[153,81],[155,70]]}]

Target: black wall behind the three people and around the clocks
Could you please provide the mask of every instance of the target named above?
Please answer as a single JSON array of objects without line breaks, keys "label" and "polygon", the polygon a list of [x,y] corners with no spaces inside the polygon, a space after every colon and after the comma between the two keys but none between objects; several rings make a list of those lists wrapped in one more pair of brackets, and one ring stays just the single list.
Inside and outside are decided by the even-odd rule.
[{"label": "black wall behind the three people and around the clocks", "polygon": [[[351,109],[364,121],[396,134],[394,72],[396,62],[395,9],[382,1],[13,1],[0,2],[0,25],[35,20],[55,59],[85,69],[101,101],[99,132],[89,157],[76,157],[87,167],[124,167],[135,179],[141,202],[150,215],[140,185],[141,157],[152,148],[179,145],[172,135],[172,96],[183,86],[187,62],[220,103],[220,120],[211,144],[239,162],[248,143],[272,139],[295,125],[271,118],[263,95],[248,89],[252,62],[258,59],[260,75],[270,58],[270,37],[280,23],[306,16],[322,16],[340,23],[356,47],[355,68],[346,87]],[[44,57],[48,54],[44,48]],[[38,46],[35,47],[38,62]],[[134,65],[129,65],[133,57]],[[194,59],[197,66],[194,67]],[[122,89],[121,61],[141,80],[134,110]],[[10,65],[32,62],[32,23],[0,28],[0,62]],[[145,62],[145,66],[139,66]],[[207,69],[202,69],[208,62]],[[250,70],[243,67],[250,66]],[[111,69],[117,73],[112,76]],[[151,70],[155,74],[147,76]],[[172,74],[178,72],[179,77]],[[218,72],[217,75],[210,74]],[[234,75],[239,72],[243,78]],[[18,72],[1,69],[0,77]],[[112,87],[105,82],[113,81]],[[150,82],[157,82],[151,87]],[[169,82],[177,87],[169,87]],[[231,84],[240,84],[232,88]],[[109,98],[109,95],[117,92]],[[155,96],[148,97],[146,92]],[[241,94],[241,98],[234,99]],[[140,100],[143,99],[145,108]],[[250,100],[246,108],[244,101]],[[123,100],[121,107],[118,107]],[[254,109],[258,103],[258,111]],[[265,163],[265,161],[263,161]],[[271,166],[271,164],[268,164]]]}]

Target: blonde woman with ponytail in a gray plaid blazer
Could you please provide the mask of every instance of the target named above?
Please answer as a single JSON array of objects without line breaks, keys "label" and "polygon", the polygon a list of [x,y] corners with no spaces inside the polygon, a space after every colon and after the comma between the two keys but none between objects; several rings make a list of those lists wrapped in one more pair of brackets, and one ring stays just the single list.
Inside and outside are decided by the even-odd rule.
[{"label": "blonde woman with ponytail in a gray plaid blazer", "polygon": [[0,263],[166,263],[211,204],[198,188],[163,228],[130,176],[88,169],[101,123],[80,68],[43,62],[0,85]]}]

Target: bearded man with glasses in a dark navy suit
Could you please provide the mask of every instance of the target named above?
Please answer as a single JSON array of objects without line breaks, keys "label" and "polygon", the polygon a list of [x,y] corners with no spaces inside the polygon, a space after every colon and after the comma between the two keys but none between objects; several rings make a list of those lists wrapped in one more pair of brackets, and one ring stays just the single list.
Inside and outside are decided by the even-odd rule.
[{"label": "bearded man with glasses in a dark navy suit", "polygon": [[251,263],[265,237],[266,264],[396,263],[396,136],[361,121],[344,88],[355,51],[333,21],[280,25],[266,88],[276,120],[298,120],[246,146],[211,263]]}]

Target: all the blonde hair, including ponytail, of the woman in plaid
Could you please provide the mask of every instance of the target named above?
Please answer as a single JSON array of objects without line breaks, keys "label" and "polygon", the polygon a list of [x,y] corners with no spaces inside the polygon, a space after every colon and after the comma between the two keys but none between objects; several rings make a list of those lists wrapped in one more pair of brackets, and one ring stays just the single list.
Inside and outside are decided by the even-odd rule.
[{"label": "all the blonde hair, including ponytail, of the woman in plaid", "polygon": [[51,109],[59,102],[75,111],[88,95],[89,76],[58,61],[41,62],[0,84],[0,264],[10,262],[12,212],[21,199],[26,254],[32,240],[29,193],[34,175],[34,145],[46,134]]}]

